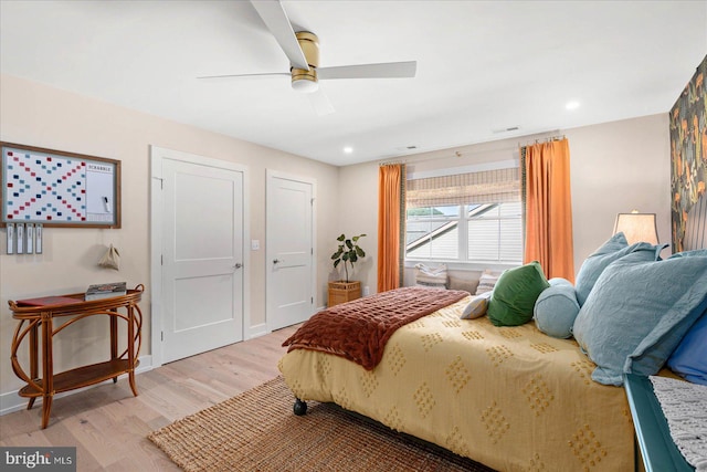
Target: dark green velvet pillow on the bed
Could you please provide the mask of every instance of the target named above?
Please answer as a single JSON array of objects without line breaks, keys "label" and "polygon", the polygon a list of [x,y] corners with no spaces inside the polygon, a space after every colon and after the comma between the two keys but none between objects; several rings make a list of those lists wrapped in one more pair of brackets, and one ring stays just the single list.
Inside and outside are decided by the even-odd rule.
[{"label": "dark green velvet pillow on the bed", "polygon": [[532,319],[540,293],[550,284],[538,261],[508,269],[498,277],[488,303],[488,318],[495,326],[518,326]]}]

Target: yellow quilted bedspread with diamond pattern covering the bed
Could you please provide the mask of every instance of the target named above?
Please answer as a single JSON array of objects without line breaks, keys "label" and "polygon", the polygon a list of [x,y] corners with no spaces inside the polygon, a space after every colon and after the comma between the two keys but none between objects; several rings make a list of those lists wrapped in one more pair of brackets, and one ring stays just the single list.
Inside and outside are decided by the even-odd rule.
[{"label": "yellow quilted bedspread with diamond pattern covering the bed", "polygon": [[305,349],[279,369],[303,400],[334,401],[499,471],[632,471],[624,390],[592,381],[578,345],[534,323],[460,319],[467,302],[398,329],[371,371]]}]

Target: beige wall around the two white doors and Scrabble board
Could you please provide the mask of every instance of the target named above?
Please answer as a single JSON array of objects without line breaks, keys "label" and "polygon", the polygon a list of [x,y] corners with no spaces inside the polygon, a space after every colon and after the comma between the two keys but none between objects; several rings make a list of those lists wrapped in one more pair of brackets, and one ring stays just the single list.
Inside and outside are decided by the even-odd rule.
[{"label": "beige wall around the two white doors and Scrabble board", "polygon": [[[261,250],[251,252],[252,326],[245,327],[246,337],[249,329],[265,323],[265,169],[316,179],[317,280],[324,281],[317,286],[316,306],[324,305],[330,241],[337,231],[333,222],[339,219],[338,168],[15,77],[2,75],[0,87],[1,140],[119,159],[123,171],[122,229],[45,228],[43,253],[24,255],[7,255],[6,233],[0,231],[0,411],[3,403],[17,402],[14,391],[21,387],[10,367],[15,322],[8,300],[83,292],[97,282],[124,280],[129,286],[144,283],[147,292],[141,307],[146,322],[140,355],[151,353],[150,145],[247,166],[251,239],[261,241]],[[118,273],[96,265],[110,243],[120,250]],[[56,346],[56,371],[103,360],[96,360],[96,356],[106,354],[107,333],[98,321],[81,323],[72,329],[72,336],[62,337]]]}]

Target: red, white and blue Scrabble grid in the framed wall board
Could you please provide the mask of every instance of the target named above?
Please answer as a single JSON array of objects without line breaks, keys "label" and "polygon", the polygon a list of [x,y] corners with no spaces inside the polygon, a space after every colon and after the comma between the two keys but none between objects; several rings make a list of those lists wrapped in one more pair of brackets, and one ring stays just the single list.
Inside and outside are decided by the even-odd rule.
[{"label": "red, white and blue Scrabble grid in the framed wall board", "polygon": [[8,221],[86,221],[86,162],[8,150]]}]

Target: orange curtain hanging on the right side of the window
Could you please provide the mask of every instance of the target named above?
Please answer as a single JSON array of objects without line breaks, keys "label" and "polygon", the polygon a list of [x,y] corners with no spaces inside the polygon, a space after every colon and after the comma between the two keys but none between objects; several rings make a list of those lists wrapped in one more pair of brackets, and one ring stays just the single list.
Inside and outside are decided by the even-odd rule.
[{"label": "orange curtain hanging on the right side of the window", "polygon": [[525,263],[539,261],[548,279],[574,283],[570,148],[567,139],[526,147]]}]

